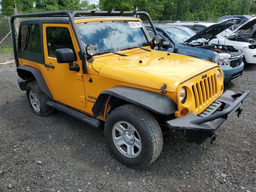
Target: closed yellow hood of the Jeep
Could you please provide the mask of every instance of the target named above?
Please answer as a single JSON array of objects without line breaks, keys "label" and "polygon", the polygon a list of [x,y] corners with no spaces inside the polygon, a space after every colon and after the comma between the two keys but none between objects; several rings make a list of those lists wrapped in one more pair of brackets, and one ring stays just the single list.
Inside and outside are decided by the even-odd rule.
[{"label": "closed yellow hood of the Jeep", "polygon": [[[92,63],[99,76],[160,89],[167,85],[167,91],[176,92],[177,86],[216,64],[180,54],[152,50],[126,52],[128,56],[101,56]],[[141,62],[140,62],[141,61]]]}]

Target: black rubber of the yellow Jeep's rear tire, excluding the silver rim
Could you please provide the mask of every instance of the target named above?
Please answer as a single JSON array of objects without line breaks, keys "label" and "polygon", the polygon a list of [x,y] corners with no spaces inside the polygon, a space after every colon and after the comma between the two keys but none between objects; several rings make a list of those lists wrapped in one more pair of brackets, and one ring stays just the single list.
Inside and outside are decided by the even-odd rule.
[{"label": "black rubber of the yellow Jeep's rear tire, excluding the silver rim", "polygon": [[[34,110],[34,108],[32,107],[32,104],[31,104],[30,98],[29,98],[30,90],[34,91],[34,93],[36,94],[36,96],[39,100],[40,112],[36,112],[36,110]],[[30,107],[32,108],[34,114],[46,117],[46,116],[49,116],[54,113],[54,109],[46,105],[46,103],[48,101],[50,101],[51,99],[48,98],[48,96],[46,96],[46,94],[44,94],[40,90],[39,85],[36,81],[28,82],[28,84],[26,85],[26,94],[27,94],[28,102],[29,102]]]}]

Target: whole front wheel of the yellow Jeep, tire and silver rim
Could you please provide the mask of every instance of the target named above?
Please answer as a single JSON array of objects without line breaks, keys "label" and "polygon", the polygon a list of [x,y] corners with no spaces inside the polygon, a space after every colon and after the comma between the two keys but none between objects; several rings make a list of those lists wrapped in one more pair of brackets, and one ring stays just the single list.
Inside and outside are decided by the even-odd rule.
[{"label": "whole front wheel of the yellow Jeep, tire and silver rim", "polygon": [[114,156],[132,168],[145,168],[163,147],[161,128],[150,112],[133,104],[114,109],[105,123],[105,137]]}]

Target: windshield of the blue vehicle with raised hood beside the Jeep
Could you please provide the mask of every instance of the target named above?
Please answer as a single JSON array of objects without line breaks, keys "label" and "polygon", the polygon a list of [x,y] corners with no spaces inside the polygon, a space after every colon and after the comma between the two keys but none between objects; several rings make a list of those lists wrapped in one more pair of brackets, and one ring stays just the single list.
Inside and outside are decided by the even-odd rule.
[{"label": "windshield of the blue vehicle with raised hood beside the Jeep", "polygon": [[[193,30],[186,28],[186,27],[176,27],[176,26],[170,26],[166,27],[165,30],[168,32],[168,34],[173,38],[174,41],[176,41],[178,44],[182,44],[192,36],[196,34]],[[196,44],[196,43],[203,43],[204,41],[202,39],[193,40],[189,44]]]}]

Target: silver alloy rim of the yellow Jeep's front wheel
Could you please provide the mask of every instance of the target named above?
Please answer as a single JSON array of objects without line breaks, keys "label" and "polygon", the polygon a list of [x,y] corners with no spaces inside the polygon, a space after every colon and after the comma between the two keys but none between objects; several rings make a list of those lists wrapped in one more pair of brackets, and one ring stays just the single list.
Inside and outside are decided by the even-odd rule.
[{"label": "silver alloy rim of the yellow Jeep's front wheel", "polygon": [[124,156],[137,157],[142,149],[140,135],[130,123],[119,121],[112,128],[112,139],[116,148]]}]

